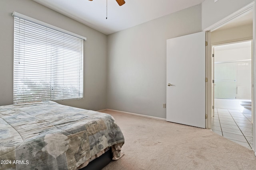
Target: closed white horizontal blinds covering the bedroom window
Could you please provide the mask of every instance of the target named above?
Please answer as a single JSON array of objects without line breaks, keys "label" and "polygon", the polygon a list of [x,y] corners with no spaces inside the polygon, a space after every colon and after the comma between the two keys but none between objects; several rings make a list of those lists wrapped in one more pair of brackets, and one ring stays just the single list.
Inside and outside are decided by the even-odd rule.
[{"label": "closed white horizontal blinds covering the bedroom window", "polygon": [[84,39],[14,16],[13,102],[83,98]]}]

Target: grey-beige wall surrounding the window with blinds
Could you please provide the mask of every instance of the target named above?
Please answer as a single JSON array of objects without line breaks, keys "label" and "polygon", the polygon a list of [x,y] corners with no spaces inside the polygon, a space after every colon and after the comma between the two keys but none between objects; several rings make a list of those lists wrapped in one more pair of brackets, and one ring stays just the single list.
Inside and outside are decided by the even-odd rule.
[{"label": "grey-beige wall surrounding the window with blinds", "polygon": [[32,0],[0,0],[0,106],[13,103],[13,11],[87,37],[84,43],[84,99],[60,104],[105,109],[107,36]]}]

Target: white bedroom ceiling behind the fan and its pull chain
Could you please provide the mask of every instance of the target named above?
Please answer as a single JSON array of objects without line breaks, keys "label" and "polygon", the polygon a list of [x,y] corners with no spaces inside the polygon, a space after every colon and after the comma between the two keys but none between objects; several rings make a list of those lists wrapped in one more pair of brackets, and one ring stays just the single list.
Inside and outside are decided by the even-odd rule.
[{"label": "white bedroom ceiling behind the fan and its pull chain", "polygon": [[[201,4],[204,0],[34,0],[106,35]],[[106,2],[108,1],[108,19]]]}]

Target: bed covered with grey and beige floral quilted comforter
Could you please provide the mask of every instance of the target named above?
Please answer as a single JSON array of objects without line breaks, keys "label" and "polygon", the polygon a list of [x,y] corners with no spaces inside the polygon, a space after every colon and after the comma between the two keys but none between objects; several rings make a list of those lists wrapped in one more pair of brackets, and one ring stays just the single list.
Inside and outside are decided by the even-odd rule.
[{"label": "bed covered with grey and beige floral quilted comforter", "polygon": [[106,113],[52,101],[0,106],[1,170],[78,170],[108,150],[118,160],[123,145]]}]

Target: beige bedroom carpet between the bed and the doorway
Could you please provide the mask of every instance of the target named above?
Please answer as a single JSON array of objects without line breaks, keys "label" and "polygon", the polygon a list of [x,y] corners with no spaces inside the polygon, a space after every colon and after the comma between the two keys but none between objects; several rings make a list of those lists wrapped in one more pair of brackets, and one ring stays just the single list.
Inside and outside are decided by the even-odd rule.
[{"label": "beige bedroom carpet between the bed and the doorway", "polygon": [[124,156],[102,170],[255,170],[252,150],[201,129],[106,110],[120,126]]}]

